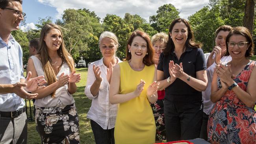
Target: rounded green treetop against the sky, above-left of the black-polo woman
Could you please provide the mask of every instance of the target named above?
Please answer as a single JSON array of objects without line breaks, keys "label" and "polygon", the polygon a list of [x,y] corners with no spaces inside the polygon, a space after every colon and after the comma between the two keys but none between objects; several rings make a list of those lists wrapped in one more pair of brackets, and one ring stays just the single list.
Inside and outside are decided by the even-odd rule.
[{"label": "rounded green treetop against the sky, above-left of the black-polo woman", "polygon": [[158,32],[169,32],[171,22],[179,18],[180,12],[172,4],[165,4],[158,7],[156,15],[149,17],[151,26]]}]

